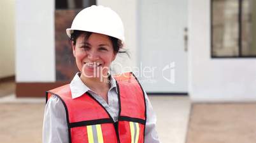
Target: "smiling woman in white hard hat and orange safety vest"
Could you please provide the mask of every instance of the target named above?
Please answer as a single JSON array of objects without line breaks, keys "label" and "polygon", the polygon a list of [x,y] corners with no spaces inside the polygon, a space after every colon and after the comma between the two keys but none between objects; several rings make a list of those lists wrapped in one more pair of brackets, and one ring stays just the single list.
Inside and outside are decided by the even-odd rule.
[{"label": "smiling woman in white hard hat and orange safety vest", "polygon": [[70,84],[46,92],[43,142],[159,142],[155,114],[136,77],[109,72],[124,44],[117,13],[85,8],[67,34],[80,72]]}]

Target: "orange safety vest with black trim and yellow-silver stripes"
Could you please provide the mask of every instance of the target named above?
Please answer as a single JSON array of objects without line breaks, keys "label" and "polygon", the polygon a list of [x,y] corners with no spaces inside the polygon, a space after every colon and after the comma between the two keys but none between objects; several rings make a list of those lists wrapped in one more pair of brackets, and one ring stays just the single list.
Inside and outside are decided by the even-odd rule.
[{"label": "orange safety vest with black trim and yellow-silver stripes", "polygon": [[46,92],[46,102],[59,97],[66,110],[69,143],[145,142],[145,95],[132,73],[115,76],[118,90],[118,121],[89,92],[72,99],[68,85]]}]

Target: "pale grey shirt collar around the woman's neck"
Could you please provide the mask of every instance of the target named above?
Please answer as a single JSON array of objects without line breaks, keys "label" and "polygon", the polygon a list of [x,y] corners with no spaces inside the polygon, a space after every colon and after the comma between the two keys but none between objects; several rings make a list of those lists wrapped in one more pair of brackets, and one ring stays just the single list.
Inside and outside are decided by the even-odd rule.
[{"label": "pale grey shirt collar around the woman's neck", "polygon": [[[71,81],[71,83],[69,84],[70,90],[71,90],[71,94],[72,94],[72,99],[75,99],[77,97],[82,96],[83,94],[85,94],[85,92],[89,91],[89,87],[87,87],[87,85],[85,85],[81,78],[80,78],[81,73],[76,73],[75,77],[73,78],[73,80]],[[112,77],[112,75],[110,75],[110,90],[115,89],[116,92],[117,91],[117,84],[116,84],[116,80],[114,77]],[[92,90],[90,90],[92,91]]]}]

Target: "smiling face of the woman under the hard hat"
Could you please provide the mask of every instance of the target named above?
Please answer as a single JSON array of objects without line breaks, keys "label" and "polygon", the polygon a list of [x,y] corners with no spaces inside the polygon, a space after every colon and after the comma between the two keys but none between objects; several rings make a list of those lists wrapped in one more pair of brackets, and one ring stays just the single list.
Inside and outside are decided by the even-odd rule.
[{"label": "smiling face of the woman under the hard hat", "polygon": [[102,77],[108,74],[108,69],[116,55],[113,45],[107,35],[92,33],[85,40],[85,34],[80,34],[76,44],[72,42],[76,65],[83,77]]}]

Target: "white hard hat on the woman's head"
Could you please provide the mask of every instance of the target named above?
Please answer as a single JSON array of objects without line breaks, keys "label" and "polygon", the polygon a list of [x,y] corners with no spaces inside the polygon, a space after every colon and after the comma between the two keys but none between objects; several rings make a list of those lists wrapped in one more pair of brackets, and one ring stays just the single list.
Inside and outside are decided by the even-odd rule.
[{"label": "white hard hat on the woman's head", "polygon": [[66,29],[69,38],[74,30],[109,35],[122,40],[124,44],[124,25],[120,16],[104,6],[94,5],[80,11],[73,20],[71,28]]}]

